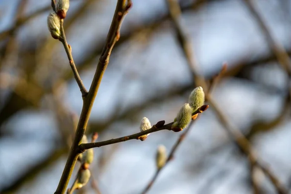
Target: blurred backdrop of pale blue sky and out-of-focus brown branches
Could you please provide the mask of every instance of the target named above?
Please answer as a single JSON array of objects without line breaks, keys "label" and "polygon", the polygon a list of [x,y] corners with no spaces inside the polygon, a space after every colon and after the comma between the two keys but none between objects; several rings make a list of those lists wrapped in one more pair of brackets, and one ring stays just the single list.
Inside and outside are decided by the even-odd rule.
[{"label": "blurred backdrop of pale blue sky and out-of-focus brown branches", "polygon": [[[291,1],[255,2],[271,33],[290,53]],[[66,36],[86,88],[115,3],[70,1]],[[242,0],[180,0],[180,5],[203,75],[212,78],[228,64],[213,92],[216,102],[291,187],[290,81],[262,30]],[[47,29],[50,10],[50,0],[0,0],[1,194],[55,191],[81,113],[81,94],[65,50]],[[172,122],[192,89],[165,0],[133,0],[86,133],[97,131],[102,141],[138,132],[144,116],[153,124]],[[170,149],[177,138],[178,133],[160,131],[145,142],[95,148],[92,183],[102,194],[140,193],[155,172],[157,146]],[[252,176],[264,194],[275,193],[269,180],[250,168],[210,107],[149,193],[246,194],[253,190]],[[88,184],[79,192],[93,194],[94,188]]]}]

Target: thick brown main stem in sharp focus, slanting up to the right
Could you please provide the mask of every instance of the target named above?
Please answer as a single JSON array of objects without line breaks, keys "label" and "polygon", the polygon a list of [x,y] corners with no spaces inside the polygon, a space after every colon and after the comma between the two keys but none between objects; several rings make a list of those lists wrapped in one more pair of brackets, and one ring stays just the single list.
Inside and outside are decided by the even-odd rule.
[{"label": "thick brown main stem in sharp focus, slanting up to the right", "polygon": [[64,194],[69,179],[71,177],[74,166],[77,162],[80,150],[79,144],[81,143],[82,136],[86,130],[88,120],[90,117],[90,113],[92,110],[92,106],[95,100],[95,97],[98,92],[98,88],[103,77],[103,74],[106,70],[106,67],[109,63],[111,51],[113,49],[114,44],[118,41],[120,36],[120,27],[124,16],[128,13],[129,8],[131,7],[131,1],[128,0],[118,0],[115,8],[115,13],[113,16],[113,20],[106,38],[106,44],[103,48],[102,54],[100,56],[97,69],[91,83],[90,90],[88,94],[83,97],[83,107],[81,111],[80,120],[78,123],[78,128],[76,130],[75,139],[73,145],[71,146],[71,150],[69,152],[69,156],[67,162],[65,164],[65,168],[60,179],[59,185],[55,194]]}]

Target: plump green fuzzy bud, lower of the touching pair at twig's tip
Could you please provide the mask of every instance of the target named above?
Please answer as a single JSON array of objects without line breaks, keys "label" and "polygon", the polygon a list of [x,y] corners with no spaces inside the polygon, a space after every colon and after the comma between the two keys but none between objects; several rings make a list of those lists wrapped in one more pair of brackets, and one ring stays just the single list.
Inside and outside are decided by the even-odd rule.
[{"label": "plump green fuzzy bud, lower of the touching pair at twig's tip", "polygon": [[181,131],[190,123],[192,119],[192,108],[188,103],[184,104],[180,109],[177,117],[172,125],[172,130],[175,132]]}]

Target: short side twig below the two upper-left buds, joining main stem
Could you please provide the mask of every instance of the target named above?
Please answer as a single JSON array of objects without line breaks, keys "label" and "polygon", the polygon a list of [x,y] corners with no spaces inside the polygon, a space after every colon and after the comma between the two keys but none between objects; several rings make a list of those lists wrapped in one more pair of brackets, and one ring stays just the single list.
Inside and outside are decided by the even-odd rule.
[{"label": "short side twig below the two upper-left buds, joining main stem", "polygon": [[66,52],[68,60],[69,60],[69,64],[70,64],[70,66],[72,68],[75,80],[77,81],[78,86],[80,88],[80,91],[82,93],[82,97],[85,97],[88,94],[88,91],[86,90],[86,88],[85,88],[85,86],[83,84],[83,81],[81,80],[81,77],[80,77],[80,75],[78,73],[77,67],[75,65],[75,62],[74,62],[74,59],[73,59],[73,56],[72,56],[72,48],[71,48],[71,46],[68,45],[68,43],[66,41],[63,23],[64,23],[64,20],[61,19],[61,38],[60,38],[60,41],[64,45],[65,52]]}]

